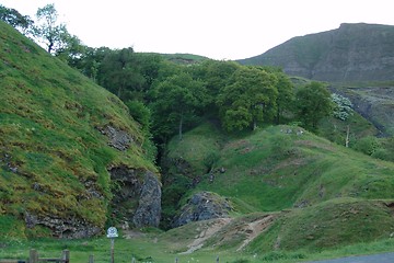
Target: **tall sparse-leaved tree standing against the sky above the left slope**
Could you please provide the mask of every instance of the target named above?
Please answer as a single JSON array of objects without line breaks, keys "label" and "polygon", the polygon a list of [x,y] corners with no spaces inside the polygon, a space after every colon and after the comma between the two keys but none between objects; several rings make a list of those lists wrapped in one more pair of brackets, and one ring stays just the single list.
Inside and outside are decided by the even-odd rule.
[{"label": "tall sparse-leaved tree standing against the sky above the left slope", "polygon": [[48,53],[56,53],[56,50],[67,45],[70,34],[65,24],[57,22],[58,12],[55,9],[55,4],[51,3],[39,8],[36,16],[38,23],[34,28],[35,36],[46,45]]}]

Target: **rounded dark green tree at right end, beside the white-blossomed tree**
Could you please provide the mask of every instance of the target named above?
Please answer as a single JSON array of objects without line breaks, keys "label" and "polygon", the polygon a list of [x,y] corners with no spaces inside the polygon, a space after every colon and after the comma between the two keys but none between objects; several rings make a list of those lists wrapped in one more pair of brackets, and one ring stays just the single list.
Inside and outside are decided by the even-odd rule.
[{"label": "rounded dark green tree at right end, beside the white-blossomed tree", "polygon": [[296,115],[305,128],[316,130],[318,121],[332,111],[331,94],[323,83],[313,81],[297,91]]}]

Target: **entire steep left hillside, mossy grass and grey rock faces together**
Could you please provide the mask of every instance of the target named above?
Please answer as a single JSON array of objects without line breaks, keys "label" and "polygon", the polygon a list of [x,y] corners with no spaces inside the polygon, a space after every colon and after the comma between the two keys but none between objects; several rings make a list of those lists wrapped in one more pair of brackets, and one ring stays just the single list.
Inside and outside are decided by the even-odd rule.
[{"label": "entire steep left hillside, mossy grass and grey rock faces together", "polygon": [[3,22],[0,90],[3,238],[94,236],[125,201],[127,220],[159,224],[157,168],[116,96]]}]

